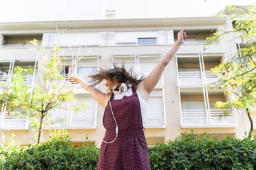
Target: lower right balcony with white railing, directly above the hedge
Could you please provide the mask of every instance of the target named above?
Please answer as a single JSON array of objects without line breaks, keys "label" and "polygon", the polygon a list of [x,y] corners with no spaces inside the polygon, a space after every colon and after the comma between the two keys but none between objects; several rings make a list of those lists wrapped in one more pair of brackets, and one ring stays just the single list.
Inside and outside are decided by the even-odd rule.
[{"label": "lower right balcony with white railing, directly above the hedge", "polygon": [[222,92],[204,93],[202,88],[182,89],[181,119],[182,127],[235,127],[235,111],[228,108],[215,108],[216,101],[226,101]]}]

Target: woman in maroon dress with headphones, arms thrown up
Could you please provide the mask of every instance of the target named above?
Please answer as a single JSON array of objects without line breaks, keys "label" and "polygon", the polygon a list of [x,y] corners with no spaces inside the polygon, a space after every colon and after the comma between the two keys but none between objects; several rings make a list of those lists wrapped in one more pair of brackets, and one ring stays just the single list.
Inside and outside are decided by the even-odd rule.
[{"label": "woman in maroon dress with headphones, arms thrown up", "polygon": [[[174,58],[186,39],[185,29],[178,32],[178,40],[170,51],[158,62],[146,78],[132,75],[114,64],[114,69],[100,69],[98,73],[90,75],[93,84],[85,82],[80,77],[72,76],[72,84],[81,84],[89,94],[105,108],[103,125],[106,129],[103,142],[100,145],[100,154],[97,170],[101,169],[150,169],[149,150],[144,134],[142,115],[146,112],[149,94],[158,84],[165,66]],[[94,88],[106,80],[110,93],[103,93]]]}]

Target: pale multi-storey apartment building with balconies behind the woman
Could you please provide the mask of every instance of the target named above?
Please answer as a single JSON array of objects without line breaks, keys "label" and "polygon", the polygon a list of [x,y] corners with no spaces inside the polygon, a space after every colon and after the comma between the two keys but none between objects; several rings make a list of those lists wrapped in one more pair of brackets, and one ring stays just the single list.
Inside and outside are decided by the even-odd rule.
[{"label": "pale multi-storey apartment building with balconies behind the woman", "polygon": [[[65,32],[56,32],[56,25],[58,29],[66,29]],[[28,75],[26,82],[37,83],[36,71],[41,64],[35,60],[36,54],[28,49],[33,38],[46,49],[56,43],[63,49],[64,76],[70,73],[73,49],[78,47],[83,58],[78,62],[75,74],[85,80],[99,67],[110,68],[112,61],[125,62],[127,68],[132,67],[139,75],[148,75],[173,47],[180,29],[186,28],[188,38],[164,70],[150,95],[147,114],[143,117],[149,147],[158,142],[167,143],[181,132],[190,132],[191,129],[195,134],[206,132],[219,139],[226,135],[244,138],[244,132],[248,132],[250,125],[246,112],[233,108],[227,110],[229,114],[226,117],[222,117],[225,110],[215,108],[215,101],[226,101],[233,96],[224,96],[224,90],[207,88],[209,82],[217,80],[211,68],[237,53],[239,42],[220,39],[204,50],[204,41],[213,32],[224,32],[230,27],[232,22],[229,17],[0,23],[0,81],[6,81],[6,75],[12,75],[15,66],[33,66],[34,75]],[[64,128],[70,133],[74,145],[81,145],[87,134],[89,142],[100,147],[105,135],[105,108],[97,104],[80,85],[70,84],[70,87],[76,89],[78,102],[88,102],[86,110],[78,115],[70,109],[51,110],[49,117],[52,120],[65,121],[45,127],[43,138],[49,139],[52,129]],[[107,90],[104,83],[97,88],[104,92]],[[255,116],[253,120],[256,122]],[[5,141],[14,133],[21,144],[32,143],[34,134],[28,117],[10,115],[6,112],[5,104],[1,104],[0,128],[6,136]]]}]

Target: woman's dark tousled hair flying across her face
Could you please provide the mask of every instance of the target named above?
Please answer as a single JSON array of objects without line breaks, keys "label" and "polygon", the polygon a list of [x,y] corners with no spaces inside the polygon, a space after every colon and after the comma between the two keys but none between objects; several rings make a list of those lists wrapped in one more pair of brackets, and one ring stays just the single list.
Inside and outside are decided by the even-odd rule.
[{"label": "woman's dark tousled hair flying across her face", "polygon": [[118,90],[118,86],[120,84],[125,83],[125,84],[131,84],[131,86],[134,86],[137,88],[137,85],[145,79],[144,75],[141,75],[141,77],[138,78],[138,75],[134,73],[133,69],[130,67],[129,71],[125,69],[125,64],[122,62],[121,66],[118,66],[114,62],[112,62],[114,68],[112,69],[102,69],[98,71],[98,73],[89,75],[88,77],[91,78],[91,81],[89,86],[96,86],[103,80],[111,80],[112,83],[117,84],[116,89]]}]

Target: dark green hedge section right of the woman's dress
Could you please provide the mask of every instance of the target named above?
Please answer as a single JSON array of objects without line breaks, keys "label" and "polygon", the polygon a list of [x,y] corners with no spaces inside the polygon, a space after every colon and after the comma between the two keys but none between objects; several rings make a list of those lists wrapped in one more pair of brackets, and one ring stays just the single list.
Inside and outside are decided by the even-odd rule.
[{"label": "dark green hedge section right of the woman's dress", "polygon": [[256,169],[256,141],[226,136],[217,141],[182,133],[167,145],[149,147],[151,169]]}]

